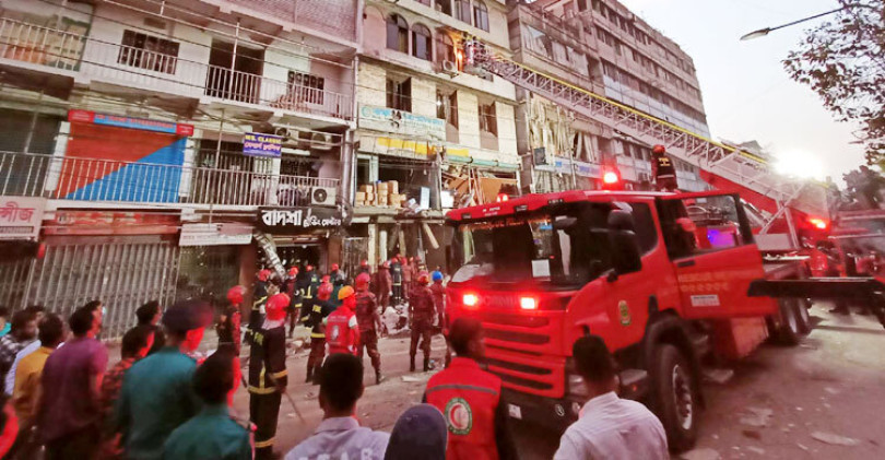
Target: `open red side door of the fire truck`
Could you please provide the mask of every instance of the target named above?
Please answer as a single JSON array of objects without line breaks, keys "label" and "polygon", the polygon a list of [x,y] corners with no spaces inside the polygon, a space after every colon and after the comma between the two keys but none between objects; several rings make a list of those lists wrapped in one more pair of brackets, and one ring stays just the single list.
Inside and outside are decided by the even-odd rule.
[{"label": "open red side door of the fire truck", "polygon": [[750,282],[765,278],[765,270],[736,194],[662,198],[658,210],[685,318],[755,317],[777,310],[774,299],[746,295]]}]

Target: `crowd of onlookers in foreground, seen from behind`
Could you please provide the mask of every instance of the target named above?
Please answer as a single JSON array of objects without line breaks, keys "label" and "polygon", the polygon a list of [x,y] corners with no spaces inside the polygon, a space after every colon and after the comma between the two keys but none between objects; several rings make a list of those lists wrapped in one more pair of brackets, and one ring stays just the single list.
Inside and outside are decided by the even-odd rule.
[{"label": "crowd of onlookers in foreground, seen from behind", "polygon": [[[12,315],[0,337],[0,457],[252,458],[253,425],[231,415],[241,381],[234,346],[222,345],[199,362],[193,356],[214,316],[208,304],[185,300],[165,311],[156,303],[142,306],[138,326],[122,338],[120,361],[110,367],[108,350],[96,339],[104,314],[96,300],[67,321],[38,306]],[[318,376],[323,420],[285,458],[519,458],[502,380],[481,367],[481,323],[459,318],[447,340],[456,357],[430,377],[422,403],[408,409],[390,434],[362,427],[357,420],[362,359],[331,354]],[[615,364],[602,340],[581,338],[573,353],[588,402],[555,458],[668,458],[658,418],[617,397]]]}]

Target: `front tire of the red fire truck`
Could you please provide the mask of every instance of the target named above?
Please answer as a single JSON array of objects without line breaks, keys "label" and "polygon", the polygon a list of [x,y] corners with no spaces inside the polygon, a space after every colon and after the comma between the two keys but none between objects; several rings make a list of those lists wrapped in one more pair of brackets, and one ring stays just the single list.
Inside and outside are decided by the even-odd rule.
[{"label": "front tire of the red fire truck", "polygon": [[697,440],[698,393],[692,366],[680,349],[664,343],[652,364],[653,406],[661,418],[670,450],[683,452]]}]

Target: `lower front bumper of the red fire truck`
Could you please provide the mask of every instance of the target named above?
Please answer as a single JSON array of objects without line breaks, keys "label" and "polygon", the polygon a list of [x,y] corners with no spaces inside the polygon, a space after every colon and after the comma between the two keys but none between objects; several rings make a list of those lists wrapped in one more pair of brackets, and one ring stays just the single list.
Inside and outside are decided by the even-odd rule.
[{"label": "lower front bumper of the red fire truck", "polygon": [[557,433],[578,420],[583,401],[543,398],[520,391],[502,389],[504,403],[511,420],[541,425]]}]

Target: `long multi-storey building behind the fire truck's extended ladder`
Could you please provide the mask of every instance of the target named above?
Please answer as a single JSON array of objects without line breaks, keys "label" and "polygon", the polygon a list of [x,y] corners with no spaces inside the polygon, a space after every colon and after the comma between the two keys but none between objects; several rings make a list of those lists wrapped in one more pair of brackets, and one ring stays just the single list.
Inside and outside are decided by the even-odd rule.
[{"label": "long multi-storey building behind the fire truck's extended ladder", "polygon": [[[709,135],[692,58],[616,0],[511,1],[515,60],[556,79]],[[606,168],[646,188],[650,148],[612,127],[518,91],[523,185],[532,191],[593,188]],[[706,185],[676,161],[681,187]],[[528,187],[527,187],[528,188]]]}]

